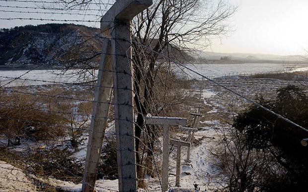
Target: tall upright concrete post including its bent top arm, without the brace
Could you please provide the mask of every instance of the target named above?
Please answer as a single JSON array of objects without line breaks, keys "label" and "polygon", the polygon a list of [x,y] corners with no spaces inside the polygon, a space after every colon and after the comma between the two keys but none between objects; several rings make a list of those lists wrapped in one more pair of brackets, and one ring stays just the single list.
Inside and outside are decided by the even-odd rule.
[{"label": "tall upright concrete post including its bent top arm, without the brace", "polygon": [[112,27],[115,127],[119,191],[137,191],[131,20],[152,0],[117,0],[101,19],[101,30]]}]

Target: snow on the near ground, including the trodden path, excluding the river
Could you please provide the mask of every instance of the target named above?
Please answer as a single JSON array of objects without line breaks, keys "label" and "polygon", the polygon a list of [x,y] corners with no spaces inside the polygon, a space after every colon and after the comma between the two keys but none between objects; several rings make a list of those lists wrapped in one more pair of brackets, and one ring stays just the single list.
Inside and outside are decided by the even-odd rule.
[{"label": "snow on the near ground, including the trodden path, excluding the river", "polygon": [[[264,93],[265,96],[275,96],[276,89],[282,86],[286,86],[290,83],[288,81],[281,80],[261,80],[261,79],[221,79],[219,83],[235,90],[236,92],[253,98],[256,93]],[[307,85],[307,82],[301,84]],[[211,150],[215,148],[217,142],[220,141],[219,129],[222,126],[218,118],[215,118],[216,114],[231,113],[228,111],[228,107],[236,107],[240,109],[246,105],[242,99],[238,99],[237,96],[230,94],[230,92],[223,90],[222,88],[211,84],[210,82],[202,83],[204,103],[210,106],[211,109],[207,111],[204,116],[206,119],[201,121],[201,125],[204,124],[201,130],[195,133],[194,144],[191,147],[190,163],[185,163],[187,150],[186,147],[182,147],[181,156],[184,169],[181,171],[181,187],[183,189],[193,190],[193,183],[199,184],[201,191],[207,190],[207,192],[215,191],[215,186],[212,176],[216,174],[216,170],[213,167],[213,157],[211,156]],[[231,108],[232,109],[232,108]],[[106,130],[107,134],[114,134],[114,127],[110,126]],[[107,135],[106,134],[106,135]],[[162,142],[162,141],[160,141]],[[74,154],[79,160],[84,160],[86,154],[86,148],[83,145],[87,144],[85,139]],[[40,145],[33,144],[33,147],[40,147]],[[18,150],[16,148],[15,150]],[[22,150],[22,149],[20,149]],[[176,172],[176,149],[170,154],[170,166],[169,166],[169,184],[171,187],[175,186],[175,172]],[[161,157],[156,157],[157,161],[161,161]],[[9,169],[5,169],[9,168]],[[185,172],[185,173],[184,173]],[[190,173],[187,175],[186,173]],[[29,179],[21,170],[14,168],[13,166],[0,161],[0,177],[6,179],[0,180],[0,189],[2,191],[16,191],[22,189],[24,191],[34,191],[35,185],[33,181]],[[10,180],[7,180],[10,179]],[[17,181],[16,181],[17,180]],[[22,181],[22,182],[20,182]],[[56,179],[49,179],[48,184],[55,186],[55,188],[61,188],[63,190],[71,192],[79,192],[81,190],[81,184],[74,184],[72,182],[65,182]],[[147,188],[145,191],[161,191],[158,178],[146,178]],[[96,182],[96,189],[100,192],[118,191],[118,180],[98,180]],[[12,190],[9,190],[12,188]],[[6,190],[7,189],[7,190]]]}]

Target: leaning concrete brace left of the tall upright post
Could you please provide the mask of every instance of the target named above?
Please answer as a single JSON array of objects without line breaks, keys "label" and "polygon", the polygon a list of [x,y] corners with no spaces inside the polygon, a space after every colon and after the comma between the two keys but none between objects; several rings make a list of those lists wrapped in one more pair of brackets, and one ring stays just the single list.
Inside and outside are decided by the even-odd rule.
[{"label": "leaning concrete brace left of the tall upright post", "polygon": [[113,74],[110,72],[112,71],[110,40],[104,40],[102,52],[103,53],[99,65],[97,87],[95,90],[89,140],[86,151],[86,160],[82,182],[83,192],[92,192],[94,190],[97,175],[97,164],[99,162],[111,102]]}]

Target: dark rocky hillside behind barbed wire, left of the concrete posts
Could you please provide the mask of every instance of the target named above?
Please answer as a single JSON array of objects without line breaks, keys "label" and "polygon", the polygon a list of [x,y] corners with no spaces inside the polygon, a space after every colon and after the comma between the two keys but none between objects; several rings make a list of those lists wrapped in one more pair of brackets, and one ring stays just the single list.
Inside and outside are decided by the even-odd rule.
[{"label": "dark rocky hillside behind barbed wire, left of the concrete posts", "polygon": [[[0,65],[61,65],[99,52],[99,29],[74,24],[44,24],[0,30]],[[76,54],[78,53],[78,54]]]}]

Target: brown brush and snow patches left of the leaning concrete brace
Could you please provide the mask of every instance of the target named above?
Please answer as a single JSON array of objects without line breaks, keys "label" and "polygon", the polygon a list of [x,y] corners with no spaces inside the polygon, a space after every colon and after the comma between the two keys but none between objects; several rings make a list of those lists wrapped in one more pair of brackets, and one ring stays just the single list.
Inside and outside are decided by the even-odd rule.
[{"label": "brown brush and snow patches left of the leaning concrete brace", "polygon": [[89,99],[89,93],[60,85],[1,90],[0,160],[36,176],[80,182],[83,164],[72,155],[88,129],[92,104],[75,99]]}]

